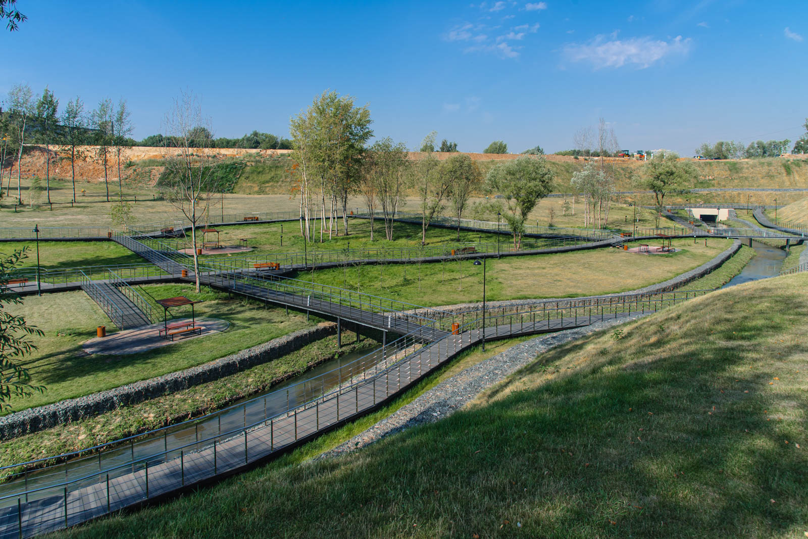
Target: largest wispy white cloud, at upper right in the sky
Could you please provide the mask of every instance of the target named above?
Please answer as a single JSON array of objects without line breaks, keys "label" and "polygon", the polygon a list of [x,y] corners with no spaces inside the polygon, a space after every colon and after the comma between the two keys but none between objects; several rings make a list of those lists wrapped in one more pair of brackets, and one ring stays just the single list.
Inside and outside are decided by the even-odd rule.
[{"label": "largest wispy white cloud, at upper right in the sky", "polygon": [[636,65],[639,69],[650,67],[664,57],[686,55],[690,50],[690,38],[676,36],[670,41],[652,40],[650,37],[633,37],[629,40],[607,41],[597,36],[587,44],[568,44],[563,48],[569,61],[586,61],[595,69]]}]

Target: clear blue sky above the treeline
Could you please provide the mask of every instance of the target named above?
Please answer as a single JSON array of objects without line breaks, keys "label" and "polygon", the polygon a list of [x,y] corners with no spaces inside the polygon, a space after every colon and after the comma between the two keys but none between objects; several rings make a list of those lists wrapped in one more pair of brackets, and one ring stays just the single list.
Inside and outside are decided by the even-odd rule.
[{"label": "clear blue sky above the treeline", "polygon": [[128,99],[135,137],[182,89],[215,134],[288,133],[326,89],[368,103],[377,136],[461,151],[573,146],[600,116],[625,149],[799,137],[808,2],[49,2],[0,33],[0,97]]}]

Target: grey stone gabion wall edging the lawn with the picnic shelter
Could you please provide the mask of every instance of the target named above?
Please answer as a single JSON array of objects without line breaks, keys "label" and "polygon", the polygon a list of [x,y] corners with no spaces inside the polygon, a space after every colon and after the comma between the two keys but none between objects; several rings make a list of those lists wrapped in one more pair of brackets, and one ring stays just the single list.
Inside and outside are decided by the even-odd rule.
[{"label": "grey stone gabion wall edging the lawn with the picnic shelter", "polygon": [[238,373],[246,368],[267,363],[267,361],[276,360],[316,340],[335,335],[336,332],[337,325],[334,322],[322,322],[318,326],[298,330],[267,343],[176,373],[137,381],[84,397],[70,398],[45,406],[21,410],[0,418],[0,440],[39,432],[57,425],[103,414],[120,406],[129,406],[150,398],[187,390],[194,385],[204,384]]}]

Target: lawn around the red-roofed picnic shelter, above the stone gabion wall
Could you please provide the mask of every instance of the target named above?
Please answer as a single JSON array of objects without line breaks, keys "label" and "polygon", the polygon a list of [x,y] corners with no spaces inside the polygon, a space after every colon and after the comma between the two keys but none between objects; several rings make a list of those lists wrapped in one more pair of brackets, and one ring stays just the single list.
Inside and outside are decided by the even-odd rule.
[{"label": "lawn around the red-roofed picnic shelter, above the stone gabion wall", "polygon": [[[8,310],[22,315],[45,335],[32,339],[38,350],[19,363],[31,373],[33,383],[45,385],[47,390],[44,394],[12,401],[15,411],[203,364],[311,326],[317,320],[312,318],[311,322],[306,322],[303,314],[284,314],[279,308],[264,309],[258,302],[242,298],[229,300],[226,293],[209,288],[197,294],[191,284],[154,284],[143,288],[158,298],[184,295],[202,300],[203,303],[196,305],[196,316],[219,318],[229,322],[229,327],[221,333],[178,341],[139,354],[86,355],[82,343],[95,337],[96,326],[111,325],[90,297],[83,292],[26,297],[23,305],[10,305]],[[185,317],[190,316],[191,311],[175,309],[172,314]]]}]

